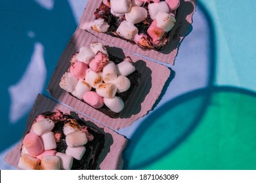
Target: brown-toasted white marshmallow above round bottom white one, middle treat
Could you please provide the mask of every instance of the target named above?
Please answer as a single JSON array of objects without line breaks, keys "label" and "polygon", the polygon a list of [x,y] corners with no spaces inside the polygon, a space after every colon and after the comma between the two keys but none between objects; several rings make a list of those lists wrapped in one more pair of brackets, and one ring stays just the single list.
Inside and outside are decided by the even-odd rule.
[{"label": "brown-toasted white marshmallow above round bottom white one, middle treat", "polygon": [[98,95],[108,99],[113,99],[116,95],[116,91],[116,85],[112,83],[102,83],[96,88]]}]

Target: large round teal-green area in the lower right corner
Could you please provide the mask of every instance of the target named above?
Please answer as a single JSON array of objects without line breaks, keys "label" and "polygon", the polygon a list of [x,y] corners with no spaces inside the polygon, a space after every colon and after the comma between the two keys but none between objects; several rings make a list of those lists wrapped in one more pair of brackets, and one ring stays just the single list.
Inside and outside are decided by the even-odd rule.
[{"label": "large round teal-green area in the lower right corner", "polygon": [[[255,93],[235,88],[215,88],[210,93],[211,98],[207,106],[203,105],[205,111],[201,118],[193,119],[192,116],[200,112],[198,104],[201,102],[202,105],[202,92],[194,93],[186,102],[158,115],[158,119],[134,142],[128,168],[256,169]],[[179,120],[174,120],[177,115]],[[168,131],[169,134],[163,135]],[[154,159],[151,151],[158,152],[158,159]],[[142,162],[146,158],[151,160]]]}]

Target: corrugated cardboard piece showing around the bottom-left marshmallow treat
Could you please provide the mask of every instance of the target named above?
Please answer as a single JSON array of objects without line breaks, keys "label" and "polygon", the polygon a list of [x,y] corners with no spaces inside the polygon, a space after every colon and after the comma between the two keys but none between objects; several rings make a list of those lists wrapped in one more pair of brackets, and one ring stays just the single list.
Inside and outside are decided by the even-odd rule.
[{"label": "corrugated cardboard piece showing around the bottom-left marshmallow treat", "polygon": [[28,120],[26,123],[26,129],[24,131],[24,135],[20,142],[7,154],[5,157],[5,161],[10,165],[18,168],[18,161],[20,159],[20,147],[22,145],[22,141],[24,136],[30,131],[30,127],[32,125],[35,116],[41,114],[42,112],[46,111],[55,111],[56,109],[61,110],[62,112],[70,114],[74,117],[79,117],[85,121],[90,121],[89,124],[96,127],[102,133],[105,133],[105,146],[100,156],[98,158],[98,169],[102,170],[114,170],[114,169],[122,169],[123,167],[123,159],[122,159],[122,152],[127,144],[127,139],[122,135],[117,134],[112,129],[95,122],[86,116],[81,114],[77,114],[74,111],[70,110],[70,108],[65,107],[64,105],[60,105],[53,100],[44,97],[43,95],[38,95],[33,108],[28,116]]}]

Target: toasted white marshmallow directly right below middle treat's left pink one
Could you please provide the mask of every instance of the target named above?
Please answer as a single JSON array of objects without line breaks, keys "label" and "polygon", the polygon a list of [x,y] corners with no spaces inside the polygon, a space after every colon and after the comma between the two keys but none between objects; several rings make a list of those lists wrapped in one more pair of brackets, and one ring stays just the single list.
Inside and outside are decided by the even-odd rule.
[{"label": "toasted white marshmallow directly right below middle treat's left pink one", "polygon": [[96,88],[99,84],[102,84],[102,73],[95,73],[91,69],[87,69],[85,82],[91,85],[91,87]]}]

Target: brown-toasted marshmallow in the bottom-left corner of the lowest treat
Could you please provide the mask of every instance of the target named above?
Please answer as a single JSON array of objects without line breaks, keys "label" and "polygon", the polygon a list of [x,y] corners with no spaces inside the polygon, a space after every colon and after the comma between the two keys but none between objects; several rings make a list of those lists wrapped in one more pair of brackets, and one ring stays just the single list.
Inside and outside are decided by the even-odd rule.
[{"label": "brown-toasted marshmallow in the bottom-left corner of the lowest treat", "polygon": [[18,167],[24,170],[38,170],[39,163],[40,159],[33,158],[29,154],[23,154],[18,161]]}]

